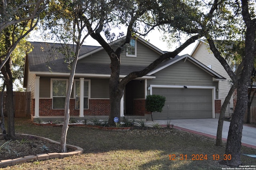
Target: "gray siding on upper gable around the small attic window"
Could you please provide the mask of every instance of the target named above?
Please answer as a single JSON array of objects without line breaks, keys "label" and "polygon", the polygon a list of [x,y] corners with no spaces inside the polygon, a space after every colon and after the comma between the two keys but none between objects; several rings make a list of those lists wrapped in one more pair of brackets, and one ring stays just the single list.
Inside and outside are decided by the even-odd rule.
[{"label": "gray siding on upper gable around the small attic window", "polygon": [[[114,48],[114,47],[113,47]],[[137,40],[137,57],[126,57],[126,52],[121,54],[121,64],[122,65],[135,65],[135,66],[148,66],[160,54],[145,46]],[[78,62],[81,63],[100,63],[100,64],[110,64],[110,58],[105,50],[96,52],[90,56],[87,56]]]}]

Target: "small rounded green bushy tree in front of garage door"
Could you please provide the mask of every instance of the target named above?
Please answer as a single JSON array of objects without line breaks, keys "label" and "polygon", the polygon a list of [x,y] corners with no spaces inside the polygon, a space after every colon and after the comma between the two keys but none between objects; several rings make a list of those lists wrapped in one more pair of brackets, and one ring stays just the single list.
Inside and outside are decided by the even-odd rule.
[{"label": "small rounded green bushy tree in front of garage door", "polygon": [[146,110],[151,112],[151,120],[153,121],[152,112],[162,112],[166,98],[160,95],[148,95],[146,97]]}]

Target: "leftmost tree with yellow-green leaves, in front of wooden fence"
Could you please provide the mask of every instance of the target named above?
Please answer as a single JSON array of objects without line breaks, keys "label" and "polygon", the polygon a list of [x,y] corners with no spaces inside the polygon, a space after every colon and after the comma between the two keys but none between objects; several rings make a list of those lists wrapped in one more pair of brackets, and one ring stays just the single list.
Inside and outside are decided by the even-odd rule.
[{"label": "leftmost tree with yellow-green leaves, in front of wooden fence", "polygon": [[16,138],[14,132],[14,109],[12,96],[12,59],[17,44],[36,27],[40,14],[47,8],[48,0],[31,2],[3,0],[0,4],[0,70],[6,82],[8,115],[8,138]]}]

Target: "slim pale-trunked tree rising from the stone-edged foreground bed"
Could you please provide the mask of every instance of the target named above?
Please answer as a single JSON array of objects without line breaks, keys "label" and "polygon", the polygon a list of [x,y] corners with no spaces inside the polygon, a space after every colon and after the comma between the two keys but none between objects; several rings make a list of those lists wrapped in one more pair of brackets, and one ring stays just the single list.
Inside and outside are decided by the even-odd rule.
[{"label": "slim pale-trunked tree rising from the stone-edged foreground bed", "polygon": [[[64,54],[65,62],[68,63],[68,68],[70,69],[70,76],[68,78],[68,89],[66,91],[66,98],[64,104],[64,123],[62,126],[61,134],[61,152],[67,152],[66,150],[66,136],[68,132],[68,122],[70,119],[70,96],[72,91],[72,86],[74,83],[74,76],[76,71],[76,64],[78,61],[79,51],[84,43],[85,39],[90,35],[86,30],[86,24],[84,22],[84,15],[88,16],[90,14],[94,17],[95,12],[98,12],[98,8],[101,6],[94,6],[93,1],[61,1],[59,5],[61,10],[58,14],[46,17],[46,20],[42,23],[44,24],[44,29],[50,28],[50,32],[53,34],[52,38],[56,38],[59,42],[64,42],[62,47],[58,48],[58,52]],[[94,19],[92,19],[93,21]],[[64,28],[64,29],[63,29]],[[87,32],[84,34],[84,32]],[[73,42],[75,45],[68,44],[68,42]]]}]

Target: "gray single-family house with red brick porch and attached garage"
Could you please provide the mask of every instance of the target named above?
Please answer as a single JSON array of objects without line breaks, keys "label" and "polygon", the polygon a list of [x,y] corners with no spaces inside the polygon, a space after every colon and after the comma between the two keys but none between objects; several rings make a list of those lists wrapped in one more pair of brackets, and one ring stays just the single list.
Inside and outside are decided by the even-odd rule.
[{"label": "gray single-family house with red brick porch and attached garage", "polygon": [[[118,46],[124,38],[111,43]],[[64,117],[64,100],[68,84],[68,64],[58,52],[61,44],[31,42],[26,55],[24,87],[31,92],[31,117]],[[70,45],[71,47],[73,45]],[[164,52],[136,36],[132,48],[121,54],[120,79],[132,71],[142,70]],[[76,118],[108,116],[110,58],[102,47],[82,46],[70,100],[70,116]],[[154,119],[215,118],[220,112],[219,82],[223,76],[188,54],[176,56],[158,65],[146,76],[129,82],[121,100],[120,116],[150,118],[145,109],[146,96],[166,96],[161,113]]]}]

